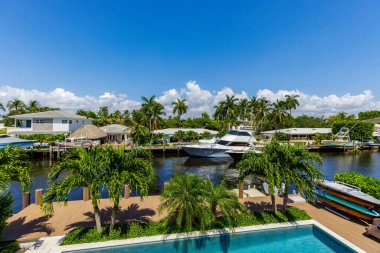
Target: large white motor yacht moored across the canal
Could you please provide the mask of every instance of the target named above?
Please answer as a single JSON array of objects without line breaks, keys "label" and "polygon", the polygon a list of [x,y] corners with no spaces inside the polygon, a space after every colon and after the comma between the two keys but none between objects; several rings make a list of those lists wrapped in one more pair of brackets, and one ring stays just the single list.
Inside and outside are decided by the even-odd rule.
[{"label": "large white motor yacht moored across the canal", "polygon": [[214,143],[199,143],[183,145],[182,149],[189,155],[195,157],[226,158],[227,150],[250,149],[256,143],[251,131],[231,130],[220,140]]}]

